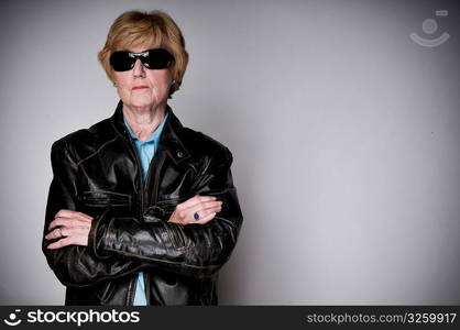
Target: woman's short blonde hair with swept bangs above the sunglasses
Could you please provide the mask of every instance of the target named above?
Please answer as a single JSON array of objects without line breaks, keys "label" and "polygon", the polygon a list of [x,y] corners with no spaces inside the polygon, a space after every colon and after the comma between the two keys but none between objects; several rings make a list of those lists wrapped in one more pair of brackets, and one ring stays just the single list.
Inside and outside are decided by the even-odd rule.
[{"label": "woman's short blonde hair with swept bangs above the sunglasses", "polygon": [[174,84],[169,97],[179,89],[188,63],[184,36],[180,29],[165,12],[154,10],[141,12],[136,10],[123,12],[114,20],[107,35],[106,45],[98,54],[98,59],[113,82],[113,69],[110,56],[116,51],[129,47],[149,46],[165,48],[174,56],[171,73]]}]

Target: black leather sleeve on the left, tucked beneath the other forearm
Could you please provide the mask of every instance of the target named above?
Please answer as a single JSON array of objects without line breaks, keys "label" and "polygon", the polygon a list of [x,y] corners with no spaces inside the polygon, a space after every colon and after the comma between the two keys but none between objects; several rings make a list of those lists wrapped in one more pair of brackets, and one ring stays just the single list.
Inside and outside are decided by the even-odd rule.
[{"label": "black leather sleeve on the left, tucked beneath the other forearm", "polygon": [[[61,209],[77,211],[77,173],[78,166],[70,156],[65,140],[59,140],[52,147],[53,180],[50,186],[45,224],[42,238],[42,251],[57,278],[65,286],[87,286],[106,278],[120,277],[139,272],[143,265],[139,261],[120,256],[98,256],[90,246],[68,245],[57,250],[46,246],[53,242],[44,237],[50,222]],[[103,217],[103,215],[101,216]],[[94,227],[100,217],[92,220]],[[91,237],[89,242],[91,242]]]}]

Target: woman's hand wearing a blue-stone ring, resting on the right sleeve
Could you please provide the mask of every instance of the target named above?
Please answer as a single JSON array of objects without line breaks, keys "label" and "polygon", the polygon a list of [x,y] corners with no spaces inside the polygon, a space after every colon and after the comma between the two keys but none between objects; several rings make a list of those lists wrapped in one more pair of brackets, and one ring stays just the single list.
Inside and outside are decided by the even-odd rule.
[{"label": "woman's hand wearing a blue-stone ring, resting on the right sleeve", "polygon": [[[211,221],[217,212],[220,212],[221,210],[222,201],[217,200],[216,197],[196,195],[195,197],[178,204],[167,221],[180,224],[205,224]],[[195,219],[195,213],[198,215],[198,219]]]}]

